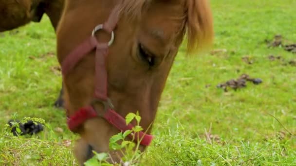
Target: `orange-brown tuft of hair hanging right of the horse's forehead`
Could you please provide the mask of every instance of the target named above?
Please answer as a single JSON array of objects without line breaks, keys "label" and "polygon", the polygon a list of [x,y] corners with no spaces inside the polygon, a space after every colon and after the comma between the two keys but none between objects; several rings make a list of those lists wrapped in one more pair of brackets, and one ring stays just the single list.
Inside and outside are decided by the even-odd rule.
[{"label": "orange-brown tuft of hair hanging right of the horse's forehead", "polygon": [[187,52],[208,49],[214,38],[213,18],[208,0],[185,0],[187,8]]}]

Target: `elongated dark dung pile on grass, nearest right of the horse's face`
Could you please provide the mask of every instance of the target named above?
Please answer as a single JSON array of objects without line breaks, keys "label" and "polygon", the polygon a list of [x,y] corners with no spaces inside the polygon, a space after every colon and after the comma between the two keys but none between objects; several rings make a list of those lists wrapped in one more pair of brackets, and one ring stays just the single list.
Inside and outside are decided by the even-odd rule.
[{"label": "elongated dark dung pile on grass, nearest right of the horse's face", "polygon": [[239,88],[244,88],[247,86],[247,81],[252,82],[254,84],[260,84],[262,83],[262,80],[259,78],[251,78],[247,74],[242,74],[238,79],[231,79],[225,83],[220,83],[217,85],[218,88],[222,88],[224,92],[228,91],[228,87],[237,90]]}]

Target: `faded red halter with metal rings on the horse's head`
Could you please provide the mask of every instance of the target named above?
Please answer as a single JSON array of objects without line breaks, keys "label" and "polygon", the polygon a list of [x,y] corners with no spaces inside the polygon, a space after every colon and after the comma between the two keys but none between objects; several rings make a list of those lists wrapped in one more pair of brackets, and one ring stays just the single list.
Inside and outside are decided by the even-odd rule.
[{"label": "faded red halter with metal rings on the horse's head", "polygon": [[[104,24],[100,24],[92,31],[92,36],[82,42],[76,47],[62,63],[62,74],[65,77],[69,71],[71,71],[75,65],[89,52],[95,49],[95,90],[94,90],[94,102],[100,101],[105,105],[104,113],[99,114],[95,110],[92,104],[85,108],[80,108],[75,112],[73,116],[68,117],[67,124],[69,129],[74,132],[79,126],[81,126],[86,120],[101,116],[106,119],[110,124],[116,127],[119,131],[125,132],[131,130],[133,126],[131,124],[126,125],[125,119],[117,114],[113,110],[111,101],[107,96],[107,68],[106,68],[106,57],[108,55],[109,46],[113,43],[114,33],[113,30],[118,22],[118,9],[115,7],[108,20]],[[99,30],[105,30],[111,33],[111,40],[109,43],[99,43],[94,36]],[[133,134],[135,141],[141,140],[140,144],[148,146],[153,136],[144,132],[139,134]],[[129,134],[132,138],[132,135]]]}]

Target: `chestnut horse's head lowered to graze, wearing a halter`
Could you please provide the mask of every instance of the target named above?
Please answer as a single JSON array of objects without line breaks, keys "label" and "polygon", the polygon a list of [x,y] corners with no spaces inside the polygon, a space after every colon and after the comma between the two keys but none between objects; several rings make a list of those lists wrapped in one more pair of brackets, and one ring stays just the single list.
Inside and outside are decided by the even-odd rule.
[{"label": "chestnut horse's head lowered to graze, wearing a halter", "polygon": [[[118,21],[113,16],[114,11],[119,11]],[[117,24],[112,27],[114,22]],[[89,43],[84,42],[92,35],[94,27],[103,23],[107,28],[95,33]],[[106,42],[112,30],[114,42],[100,52],[100,47],[108,47]],[[62,70],[67,70],[63,86],[68,116],[72,122],[75,118],[84,118],[75,129],[68,123],[70,129],[81,136],[74,150],[81,165],[91,157],[90,148],[97,152],[109,151],[113,161],[119,161],[116,151],[109,149],[109,139],[120,132],[118,127],[106,115],[90,118],[81,111],[91,104],[93,109],[88,108],[95,110],[94,114],[106,111],[102,103],[108,101],[95,100],[98,85],[107,84],[107,96],[116,114],[125,117],[129,112],[139,111],[140,125],[150,133],[149,126],[154,121],[168,73],[185,35],[190,54],[212,43],[213,23],[207,0],[66,0],[57,29],[57,58],[64,67]],[[105,44],[98,44],[96,39]],[[95,47],[99,51],[92,50]],[[86,48],[90,51],[80,55]],[[79,61],[76,56],[81,56]],[[101,58],[100,62],[97,57]],[[69,67],[71,61],[76,61],[72,68]],[[107,74],[97,70],[97,65],[104,66],[101,69],[106,69]],[[106,74],[108,80],[100,74]],[[97,78],[103,79],[98,81]],[[141,151],[145,147],[141,146]]]}]

